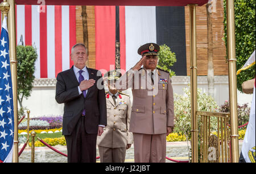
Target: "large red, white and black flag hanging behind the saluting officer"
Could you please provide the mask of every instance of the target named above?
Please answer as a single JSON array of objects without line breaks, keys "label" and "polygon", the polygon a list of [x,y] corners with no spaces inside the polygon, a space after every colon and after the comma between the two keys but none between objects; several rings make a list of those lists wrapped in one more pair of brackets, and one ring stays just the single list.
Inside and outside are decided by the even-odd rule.
[{"label": "large red, white and black flag hanging behind the saluting officer", "polygon": [[[95,6],[96,69],[115,65],[115,6]],[[119,6],[120,64],[127,71],[141,59],[138,48],[166,44],[176,53],[176,75],[187,76],[184,7]]]}]

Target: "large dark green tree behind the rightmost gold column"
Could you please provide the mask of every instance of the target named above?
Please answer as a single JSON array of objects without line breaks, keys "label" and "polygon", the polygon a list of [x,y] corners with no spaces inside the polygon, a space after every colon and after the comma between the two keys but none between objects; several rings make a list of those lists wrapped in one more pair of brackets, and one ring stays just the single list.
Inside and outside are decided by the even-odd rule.
[{"label": "large dark green tree behind the rightmost gold column", "polygon": [[[236,25],[236,57],[237,69],[243,67],[247,59],[255,50],[255,0],[234,1],[235,25]],[[224,39],[226,38],[226,0],[224,0]],[[227,47],[226,47],[227,48]],[[227,54],[228,55],[228,54]],[[242,82],[255,77],[255,65],[242,71],[237,76],[237,89],[242,92]]]}]

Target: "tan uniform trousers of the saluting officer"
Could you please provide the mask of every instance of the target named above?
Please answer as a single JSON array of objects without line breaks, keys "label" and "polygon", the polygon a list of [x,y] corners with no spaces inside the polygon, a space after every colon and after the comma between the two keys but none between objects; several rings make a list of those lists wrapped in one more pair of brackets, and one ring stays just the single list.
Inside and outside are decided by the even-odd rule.
[{"label": "tan uniform trousers of the saluting officer", "polygon": [[135,163],[165,163],[166,134],[133,133]]}]

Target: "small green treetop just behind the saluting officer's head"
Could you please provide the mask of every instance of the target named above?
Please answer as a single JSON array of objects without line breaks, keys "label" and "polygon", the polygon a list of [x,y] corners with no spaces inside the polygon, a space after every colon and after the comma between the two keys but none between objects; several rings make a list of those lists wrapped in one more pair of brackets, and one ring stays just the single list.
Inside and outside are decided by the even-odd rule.
[{"label": "small green treetop just behind the saluting officer's head", "polygon": [[175,76],[175,72],[171,71],[170,67],[176,63],[176,55],[171,52],[170,47],[166,44],[160,45],[160,51],[158,52],[158,68],[170,72],[170,76]]}]

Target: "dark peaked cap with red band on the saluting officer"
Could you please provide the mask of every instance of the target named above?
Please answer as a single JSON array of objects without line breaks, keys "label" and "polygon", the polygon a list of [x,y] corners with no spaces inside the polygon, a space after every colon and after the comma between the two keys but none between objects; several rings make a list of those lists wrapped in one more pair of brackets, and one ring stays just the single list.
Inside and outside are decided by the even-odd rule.
[{"label": "dark peaked cap with red band on the saluting officer", "polygon": [[160,50],[160,47],[156,43],[146,43],[139,47],[138,54],[142,56],[157,56],[158,52]]}]

